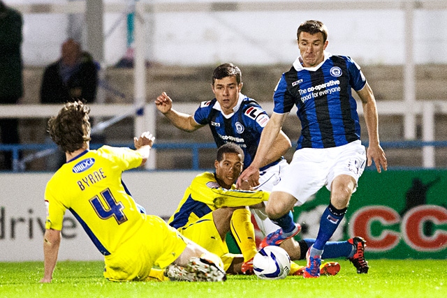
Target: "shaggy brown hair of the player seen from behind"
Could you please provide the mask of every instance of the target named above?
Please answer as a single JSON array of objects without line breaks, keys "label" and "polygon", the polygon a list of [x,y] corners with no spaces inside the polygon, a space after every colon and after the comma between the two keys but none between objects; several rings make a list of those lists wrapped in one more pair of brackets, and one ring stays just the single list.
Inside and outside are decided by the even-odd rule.
[{"label": "shaggy brown hair of the player seen from behind", "polygon": [[90,138],[90,107],[80,100],[66,103],[56,117],[48,120],[47,131],[64,152],[81,149]]}]

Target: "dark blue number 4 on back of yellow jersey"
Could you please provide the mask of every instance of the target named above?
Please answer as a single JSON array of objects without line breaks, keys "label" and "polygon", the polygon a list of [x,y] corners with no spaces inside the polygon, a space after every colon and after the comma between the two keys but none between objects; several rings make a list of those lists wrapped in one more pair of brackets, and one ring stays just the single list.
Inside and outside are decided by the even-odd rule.
[{"label": "dark blue number 4 on back of yellow jersey", "polygon": [[97,195],[90,199],[90,204],[93,206],[93,209],[96,211],[99,218],[108,219],[113,216],[118,225],[127,221],[127,218],[122,211],[124,209],[122,202],[117,202],[115,198],[113,198],[109,188],[101,192],[101,197],[103,200],[99,200]]}]

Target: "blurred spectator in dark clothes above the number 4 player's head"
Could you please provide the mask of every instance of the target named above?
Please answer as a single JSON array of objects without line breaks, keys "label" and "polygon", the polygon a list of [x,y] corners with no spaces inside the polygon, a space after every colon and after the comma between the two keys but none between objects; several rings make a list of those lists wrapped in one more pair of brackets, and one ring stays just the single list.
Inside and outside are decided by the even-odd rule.
[{"label": "blurred spectator in dark clothes above the number 4 player's head", "polygon": [[93,58],[82,52],[79,43],[68,38],[61,47],[61,58],[47,66],[43,74],[41,103],[66,103],[96,97],[98,69]]}]

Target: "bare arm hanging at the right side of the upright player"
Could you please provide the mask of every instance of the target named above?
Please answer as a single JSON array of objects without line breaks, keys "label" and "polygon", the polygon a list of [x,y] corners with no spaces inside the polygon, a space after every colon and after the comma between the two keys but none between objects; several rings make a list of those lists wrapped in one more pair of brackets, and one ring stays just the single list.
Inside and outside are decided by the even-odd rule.
[{"label": "bare arm hanging at the right side of the upright player", "polygon": [[366,83],[360,91],[357,91],[360,100],[362,100],[363,114],[365,115],[365,122],[368,131],[369,145],[367,149],[367,165],[372,165],[372,161],[376,164],[377,172],[387,170],[388,163],[386,161],[385,152],[383,151],[379,142],[379,120],[377,116],[377,106],[374,94],[371,87]]}]

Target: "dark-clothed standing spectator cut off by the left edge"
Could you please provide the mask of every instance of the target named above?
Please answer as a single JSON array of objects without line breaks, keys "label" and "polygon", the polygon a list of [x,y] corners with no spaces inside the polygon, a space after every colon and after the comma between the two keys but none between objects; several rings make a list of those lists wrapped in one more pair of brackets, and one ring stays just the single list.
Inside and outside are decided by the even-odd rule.
[{"label": "dark-clothed standing spectator cut off by the left edge", "polygon": [[[0,0],[0,104],[15,104],[23,96],[22,15]],[[1,143],[18,144],[18,119],[0,119]],[[12,170],[13,154],[3,153],[0,170]]]}]

